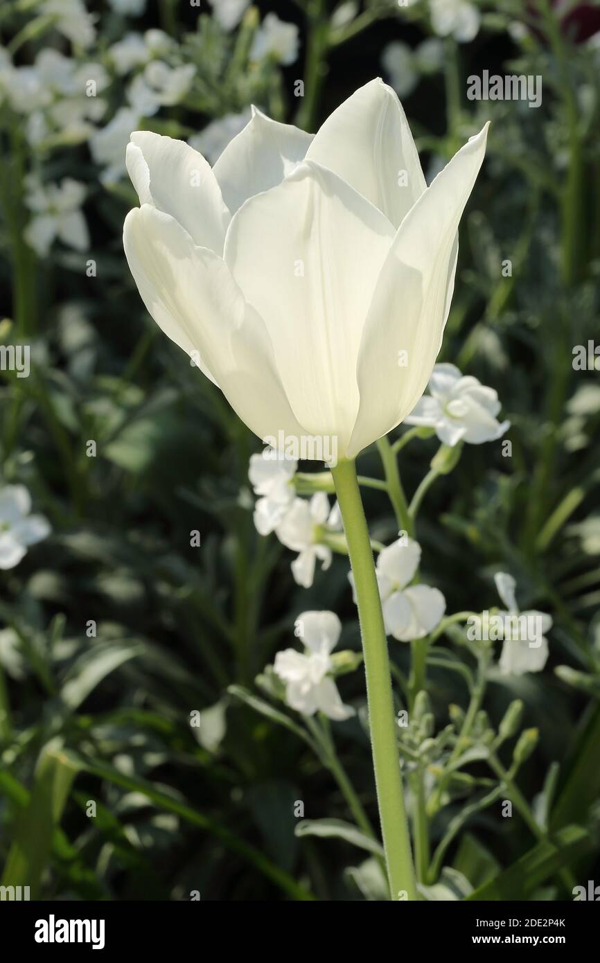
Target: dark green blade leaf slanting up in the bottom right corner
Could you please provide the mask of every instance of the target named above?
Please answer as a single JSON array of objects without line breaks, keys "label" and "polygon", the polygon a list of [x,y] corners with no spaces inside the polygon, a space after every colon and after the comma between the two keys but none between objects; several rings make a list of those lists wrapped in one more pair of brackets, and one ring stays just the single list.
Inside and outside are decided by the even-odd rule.
[{"label": "dark green blade leaf slanting up in the bottom right corner", "polygon": [[590,836],[582,826],[565,826],[554,834],[552,840],[538,843],[508,870],[484,883],[467,899],[527,899],[540,883],[586,853],[590,843]]}]

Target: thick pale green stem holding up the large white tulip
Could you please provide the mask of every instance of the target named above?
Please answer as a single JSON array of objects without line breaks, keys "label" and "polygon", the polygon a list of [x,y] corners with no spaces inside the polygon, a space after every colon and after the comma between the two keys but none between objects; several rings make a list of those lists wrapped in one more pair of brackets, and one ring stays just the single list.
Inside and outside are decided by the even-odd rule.
[{"label": "thick pale green stem holding up the large white tulip", "polygon": [[392,680],[369,530],[353,461],[331,469],[354,577],[365,660],[379,821],[392,899],[416,899],[400,771]]}]

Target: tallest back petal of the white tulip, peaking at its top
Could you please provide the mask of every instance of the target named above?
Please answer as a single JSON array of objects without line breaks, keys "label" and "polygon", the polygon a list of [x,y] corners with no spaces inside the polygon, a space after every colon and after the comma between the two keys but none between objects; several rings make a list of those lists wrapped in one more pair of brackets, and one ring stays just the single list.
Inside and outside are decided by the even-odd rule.
[{"label": "tallest back petal of the white tulip, peaking at its top", "polygon": [[394,227],[427,187],[402,104],[379,78],[327,117],[306,160],[339,174]]}]

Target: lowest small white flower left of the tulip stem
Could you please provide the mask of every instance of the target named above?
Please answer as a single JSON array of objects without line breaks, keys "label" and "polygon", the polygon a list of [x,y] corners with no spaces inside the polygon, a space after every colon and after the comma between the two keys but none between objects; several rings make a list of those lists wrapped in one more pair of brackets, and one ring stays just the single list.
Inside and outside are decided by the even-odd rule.
[{"label": "lowest small white flower left of the tulip stem", "polygon": [[304,652],[285,649],[277,652],[274,672],[285,682],[285,701],[303,716],[325,713],[342,722],[354,715],[345,706],[330,676],[330,654],[337,645],[342,626],[335,612],[302,612],[296,620],[296,635]]}]

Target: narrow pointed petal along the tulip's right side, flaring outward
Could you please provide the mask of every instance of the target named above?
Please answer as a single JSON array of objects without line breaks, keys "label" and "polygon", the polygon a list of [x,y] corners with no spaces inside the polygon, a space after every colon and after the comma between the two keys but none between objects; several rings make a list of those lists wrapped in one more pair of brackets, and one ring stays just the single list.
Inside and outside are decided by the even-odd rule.
[{"label": "narrow pointed petal along the tulip's right side, flaring outward", "polygon": [[425,390],[448,315],[458,221],[483,163],[487,127],[421,195],[383,265],[358,355],[360,408],[349,457],[399,425]]}]

